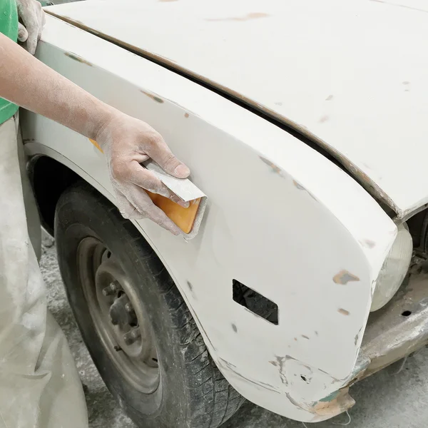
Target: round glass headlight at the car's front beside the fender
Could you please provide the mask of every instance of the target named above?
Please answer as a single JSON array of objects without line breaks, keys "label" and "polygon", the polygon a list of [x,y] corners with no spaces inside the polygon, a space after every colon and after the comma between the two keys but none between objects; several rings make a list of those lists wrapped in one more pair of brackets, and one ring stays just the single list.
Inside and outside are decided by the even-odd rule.
[{"label": "round glass headlight at the car's front beside the fender", "polygon": [[409,269],[412,250],[412,235],[410,235],[407,225],[401,224],[398,226],[397,238],[395,238],[377,277],[371,312],[386,305],[399,289]]}]

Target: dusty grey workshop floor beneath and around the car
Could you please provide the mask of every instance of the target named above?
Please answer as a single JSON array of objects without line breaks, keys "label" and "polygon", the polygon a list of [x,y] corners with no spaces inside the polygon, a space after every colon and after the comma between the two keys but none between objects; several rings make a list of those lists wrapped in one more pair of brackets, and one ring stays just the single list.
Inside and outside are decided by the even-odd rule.
[{"label": "dusty grey workshop floor beneath and around the car", "polygon": [[[89,425],[91,428],[136,428],[112,399],[101,377],[93,366],[91,357],[82,342],[71,309],[68,306],[63,284],[56,263],[55,248],[44,248],[41,260],[49,292],[49,308],[66,333],[71,351],[76,358],[78,371],[86,385]],[[400,367],[402,370],[399,371]],[[399,372],[398,372],[399,371]],[[424,428],[428,420],[428,350],[422,350],[402,362],[374,374],[356,384],[351,395],[357,404],[350,411],[350,428]],[[311,425],[314,428],[334,428],[346,424],[342,414],[327,422]],[[253,404],[245,404],[224,428],[302,428],[301,422],[290,421],[267,412]]]}]

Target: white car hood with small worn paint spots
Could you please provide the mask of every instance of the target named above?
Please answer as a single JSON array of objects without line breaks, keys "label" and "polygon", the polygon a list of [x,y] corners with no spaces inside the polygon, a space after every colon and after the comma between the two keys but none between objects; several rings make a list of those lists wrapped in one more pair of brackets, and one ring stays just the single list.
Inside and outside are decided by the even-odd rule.
[{"label": "white car hood with small worn paint spots", "polygon": [[47,10],[309,137],[397,217],[428,203],[424,0],[92,0]]}]

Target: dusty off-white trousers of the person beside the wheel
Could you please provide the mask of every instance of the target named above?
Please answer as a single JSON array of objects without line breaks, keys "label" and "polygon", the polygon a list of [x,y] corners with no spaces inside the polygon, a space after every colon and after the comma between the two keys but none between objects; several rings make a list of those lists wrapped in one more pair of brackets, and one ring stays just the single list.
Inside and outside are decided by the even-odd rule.
[{"label": "dusty off-white trousers of the person beside the wheel", "polygon": [[15,116],[0,125],[0,428],[85,428],[76,365],[46,307],[33,247],[39,216],[17,124]]}]

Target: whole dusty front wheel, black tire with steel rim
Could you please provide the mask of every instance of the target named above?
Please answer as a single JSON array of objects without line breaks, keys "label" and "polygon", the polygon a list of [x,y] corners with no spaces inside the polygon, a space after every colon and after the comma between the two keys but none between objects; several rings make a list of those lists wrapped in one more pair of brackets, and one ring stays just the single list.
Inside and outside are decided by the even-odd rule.
[{"label": "whole dusty front wheel, black tire with steel rim", "polygon": [[[178,288],[133,224],[81,182],[58,200],[55,238],[83,340],[108,389],[138,427],[215,428],[229,419],[244,399],[215,366]],[[113,282],[100,294],[98,288],[111,280],[108,275]],[[104,297],[111,299],[107,305]],[[125,331],[133,336],[122,342]]]}]

